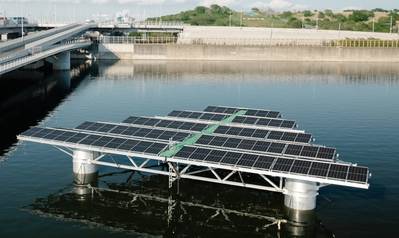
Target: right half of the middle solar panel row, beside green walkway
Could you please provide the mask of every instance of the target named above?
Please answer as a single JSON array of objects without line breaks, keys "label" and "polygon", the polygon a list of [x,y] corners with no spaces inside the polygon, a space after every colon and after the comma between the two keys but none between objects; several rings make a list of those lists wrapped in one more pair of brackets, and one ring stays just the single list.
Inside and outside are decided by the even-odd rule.
[{"label": "right half of the middle solar panel row, beside green walkway", "polygon": [[292,141],[299,143],[309,143],[312,139],[312,135],[308,133],[271,131],[265,129],[244,128],[235,126],[219,126],[216,129],[215,133],[259,139]]}]

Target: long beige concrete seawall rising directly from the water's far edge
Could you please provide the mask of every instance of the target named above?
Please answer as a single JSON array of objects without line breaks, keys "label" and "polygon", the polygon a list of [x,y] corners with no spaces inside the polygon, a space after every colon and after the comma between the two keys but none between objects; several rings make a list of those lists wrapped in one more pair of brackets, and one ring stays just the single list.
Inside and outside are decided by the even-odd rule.
[{"label": "long beige concrete seawall rising directly from the water's far edge", "polygon": [[399,62],[399,48],[100,44],[98,59]]}]

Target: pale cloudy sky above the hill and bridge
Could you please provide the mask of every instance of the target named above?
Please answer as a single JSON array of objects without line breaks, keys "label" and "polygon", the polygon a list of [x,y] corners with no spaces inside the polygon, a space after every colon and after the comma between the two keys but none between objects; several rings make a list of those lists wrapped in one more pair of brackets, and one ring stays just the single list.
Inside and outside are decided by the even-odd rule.
[{"label": "pale cloudy sky above the hill and bridge", "polygon": [[0,13],[42,21],[72,21],[99,16],[112,18],[118,12],[128,11],[133,17],[143,19],[214,3],[244,11],[252,7],[277,11],[399,8],[399,0],[0,0]]}]

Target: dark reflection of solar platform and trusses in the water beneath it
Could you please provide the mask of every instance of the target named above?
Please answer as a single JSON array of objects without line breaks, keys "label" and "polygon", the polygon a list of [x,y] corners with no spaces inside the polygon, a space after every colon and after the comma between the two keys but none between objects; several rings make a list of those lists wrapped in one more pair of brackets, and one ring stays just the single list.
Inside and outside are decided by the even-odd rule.
[{"label": "dark reflection of solar platform and trusses in the water beneath it", "polygon": [[36,199],[29,210],[162,237],[333,237],[314,212],[284,210],[280,194],[193,181],[182,181],[177,194],[166,184],[167,178],[158,175],[103,175],[90,185],[75,184]]}]

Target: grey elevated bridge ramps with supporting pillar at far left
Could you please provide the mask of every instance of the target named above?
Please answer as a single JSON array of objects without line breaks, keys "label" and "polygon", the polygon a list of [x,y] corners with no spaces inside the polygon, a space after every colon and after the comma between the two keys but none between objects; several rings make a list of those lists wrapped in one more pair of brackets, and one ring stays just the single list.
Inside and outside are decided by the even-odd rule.
[{"label": "grey elevated bridge ramps with supporting pillar at far left", "polygon": [[[70,24],[33,33],[0,44],[0,75],[31,65],[39,67],[46,60],[55,70],[70,68],[70,51],[87,48],[91,41],[76,38],[96,24]],[[42,62],[42,64],[32,65]]]}]

